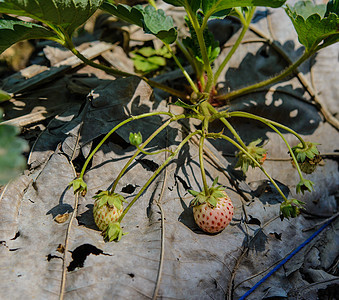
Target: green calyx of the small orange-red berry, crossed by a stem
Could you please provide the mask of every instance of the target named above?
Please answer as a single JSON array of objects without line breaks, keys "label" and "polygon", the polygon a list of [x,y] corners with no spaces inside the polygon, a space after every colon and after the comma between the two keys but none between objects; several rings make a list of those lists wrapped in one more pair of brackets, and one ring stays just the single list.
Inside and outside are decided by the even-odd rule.
[{"label": "green calyx of the small orange-red berry, crossed by a stem", "polygon": [[[267,150],[264,149],[262,146],[258,146],[262,142],[261,139],[257,139],[247,146],[247,152],[251,154],[251,156],[259,163],[263,164],[267,157]],[[249,166],[255,168],[257,165],[256,163],[248,157],[246,153],[243,151],[239,151],[237,154],[238,161],[235,165],[235,168],[241,168],[244,174],[248,171]]]}]

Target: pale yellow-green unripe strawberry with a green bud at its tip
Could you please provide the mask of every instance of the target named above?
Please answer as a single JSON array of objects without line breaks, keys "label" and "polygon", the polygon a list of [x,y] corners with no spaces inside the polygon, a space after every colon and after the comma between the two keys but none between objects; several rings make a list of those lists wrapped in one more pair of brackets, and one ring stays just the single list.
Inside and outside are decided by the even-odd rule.
[{"label": "pale yellow-green unripe strawberry with a green bud at its tip", "polygon": [[93,198],[96,199],[93,208],[95,224],[109,241],[116,238],[120,240],[122,231],[118,220],[124,210],[122,205],[122,202],[126,202],[124,197],[109,191],[101,191]]}]

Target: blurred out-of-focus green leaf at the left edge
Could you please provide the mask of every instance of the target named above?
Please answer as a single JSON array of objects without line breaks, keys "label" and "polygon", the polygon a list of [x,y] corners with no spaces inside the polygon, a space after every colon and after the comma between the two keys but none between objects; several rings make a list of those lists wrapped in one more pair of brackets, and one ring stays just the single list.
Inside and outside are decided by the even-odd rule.
[{"label": "blurred out-of-focus green leaf at the left edge", "polygon": [[0,110],[0,184],[6,184],[17,176],[26,166],[22,152],[28,149],[26,141],[17,137],[19,129],[1,124]]}]

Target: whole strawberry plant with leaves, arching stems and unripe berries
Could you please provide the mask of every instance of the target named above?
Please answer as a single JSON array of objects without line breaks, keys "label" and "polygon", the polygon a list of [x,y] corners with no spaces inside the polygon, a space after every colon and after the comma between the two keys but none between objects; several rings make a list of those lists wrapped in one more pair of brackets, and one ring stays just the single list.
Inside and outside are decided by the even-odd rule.
[{"label": "whole strawberry plant with leaves, arching stems and unripe berries", "polygon": [[[96,204],[94,215],[98,227],[104,231],[108,240],[120,239],[122,236],[121,222],[128,213],[131,206],[138,200],[142,193],[152,183],[154,178],[169,164],[169,162],[179,153],[182,147],[194,136],[199,139],[199,163],[201,170],[201,181],[203,183],[202,191],[191,193],[195,197],[192,201],[194,206],[194,215],[198,225],[207,232],[217,232],[222,230],[229,222],[233,214],[233,206],[223,188],[215,187],[216,182],[209,184],[205,174],[203,161],[203,148],[205,141],[208,139],[221,139],[225,142],[231,143],[238,149],[236,154],[238,162],[237,168],[240,168],[246,173],[251,166],[252,168],[259,168],[267,178],[275,186],[281,195],[282,203],[280,207],[280,214],[282,219],[284,217],[296,217],[300,214],[300,209],[303,203],[296,199],[288,199],[287,196],[280,189],[275,180],[265,170],[263,164],[267,156],[267,151],[261,145],[261,140],[254,140],[246,144],[236,129],[231,125],[229,120],[231,118],[245,118],[260,122],[276,132],[286,144],[287,151],[291,155],[291,159],[300,177],[299,183],[296,185],[297,193],[311,192],[313,190],[313,182],[306,180],[303,177],[303,172],[310,173],[315,170],[319,163],[319,152],[316,148],[316,143],[305,141],[293,129],[270,120],[244,111],[218,111],[212,104],[220,103],[256,91],[262,87],[277,83],[283,80],[286,76],[292,74],[298,66],[309,59],[317,51],[336,43],[339,40],[338,26],[339,26],[339,1],[332,0],[327,4],[316,5],[312,1],[300,1],[294,6],[285,6],[285,11],[290,17],[294,28],[298,34],[300,43],[304,46],[304,53],[298,60],[288,66],[284,71],[266,79],[262,82],[240,88],[238,90],[230,91],[226,94],[220,94],[217,90],[217,83],[220,75],[225,69],[227,63],[239,47],[246,31],[248,30],[251,20],[254,16],[257,6],[266,6],[271,8],[279,8],[285,4],[285,0],[165,0],[166,3],[176,7],[180,7],[186,12],[186,24],[189,35],[184,39],[178,37],[178,30],[175,27],[174,21],[167,16],[161,9],[157,9],[154,1],[149,1],[150,5],[142,6],[136,5],[130,7],[128,5],[115,4],[114,1],[109,0],[54,0],[54,1],[23,1],[23,0],[2,0],[0,2],[0,13],[4,14],[0,19],[0,52],[12,44],[24,39],[49,39],[56,41],[68,48],[74,55],[81,59],[84,63],[104,70],[107,73],[119,76],[135,76],[123,70],[107,67],[95,63],[85,56],[83,56],[74,46],[72,42],[72,35],[77,27],[82,25],[88,18],[99,8],[106,12],[134,25],[143,28],[147,34],[152,34],[162,41],[166,49],[166,55],[169,53],[178,68],[182,71],[189,89],[184,92],[184,89],[176,89],[171,86],[166,86],[162,83],[151,80],[150,78],[137,75],[142,80],[145,80],[154,88],[162,89],[172,96],[176,97],[176,101],[172,104],[184,108],[184,113],[174,114],[169,111],[157,111],[151,113],[144,113],[122,121],[116,125],[96,148],[88,155],[86,162],[80,172],[78,178],[70,183],[73,187],[74,193],[86,194],[87,185],[84,182],[84,174],[87,166],[90,163],[93,155],[103,145],[103,143],[121,126],[138,119],[151,118],[153,116],[168,117],[166,121],[152,133],[144,142],[142,140],[142,133],[131,133],[130,143],[136,146],[135,153],[127,161],[120,173],[116,176],[112,189],[109,191],[101,191],[95,198]],[[39,5],[39,3],[41,5]],[[239,6],[241,5],[241,7]],[[44,7],[44,9],[42,9]],[[76,14],[74,13],[76,12]],[[24,22],[16,16],[24,16],[32,18],[43,25],[38,25],[34,22]],[[235,17],[242,25],[241,32],[238,39],[220,64],[215,64],[216,58],[220,54],[220,47],[214,36],[209,32],[208,21],[215,18],[225,18],[227,16]],[[174,50],[176,47],[176,50]],[[139,50],[140,52],[141,50]],[[194,70],[194,76],[190,75],[184,66],[181,64],[176,52],[181,52],[185,56],[187,62]],[[148,63],[151,61],[151,54],[153,51],[147,51],[144,56],[148,57]],[[164,52],[165,53],[165,52]],[[157,52],[154,52],[157,55]],[[147,56],[149,55],[149,56]],[[153,57],[153,56],[152,56]],[[163,61],[159,61],[158,57],[155,59],[157,65],[163,65]],[[138,62],[140,64],[140,61]],[[147,66],[147,70],[149,70]],[[141,68],[140,68],[141,69]],[[174,150],[162,149],[160,151],[148,152],[144,148],[167,126],[173,122],[179,122],[182,119],[196,119],[201,123],[201,128],[190,132]],[[233,138],[224,134],[223,132],[213,132],[210,130],[210,124],[214,121],[221,121],[224,129],[229,131]],[[298,140],[299,144],[291,147],[282,131],[293,134]],[[165,161],[155,170],[153,175],[147,180],[145,185],[141,187],[135,197],[129,202],[127,207],[122,211],[122,200],[119,194],[116,193],[116,187],[121,177],[126,170],[133,163],[134,159],[140,154],[154,155],[159,152],[168,152]],[[219,212],[222,209],[223,202],[229,212]],[[200,210],[206,208],[213,217],[219,217],[220,226],[212,228],[213,225],[205,226],[205,221]],[[226,209],[227,209],[226,208]],[[99,215],[105,209],[112,211],[118,217],[112,217],[109,221],[103,223],[99,222]],[[100,212],[99,212],[100,211]],[[105,213],[106,213],[105,212]],[[222,216],[222,217],[221,217]]]}]

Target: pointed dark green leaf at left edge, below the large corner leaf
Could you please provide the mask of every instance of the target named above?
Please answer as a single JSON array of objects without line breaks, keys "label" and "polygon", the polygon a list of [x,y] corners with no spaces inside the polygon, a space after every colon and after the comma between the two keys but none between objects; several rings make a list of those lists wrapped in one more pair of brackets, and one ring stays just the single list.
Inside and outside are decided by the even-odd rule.
[{"label": "pointed dark green leaf at left edge, below the large corner leaf", "polygon": [[28,39],[57,40],[57,35],[43,26],[16,19],[0,19],[0,54],[13,44]]}]

